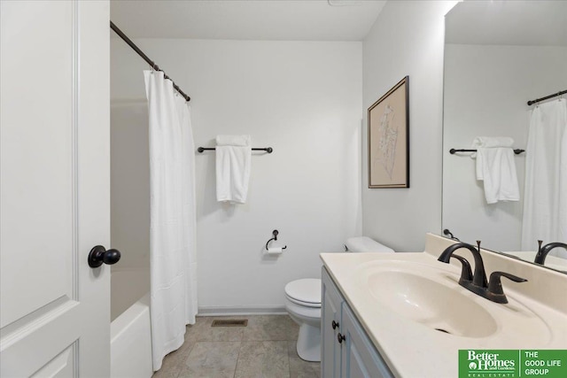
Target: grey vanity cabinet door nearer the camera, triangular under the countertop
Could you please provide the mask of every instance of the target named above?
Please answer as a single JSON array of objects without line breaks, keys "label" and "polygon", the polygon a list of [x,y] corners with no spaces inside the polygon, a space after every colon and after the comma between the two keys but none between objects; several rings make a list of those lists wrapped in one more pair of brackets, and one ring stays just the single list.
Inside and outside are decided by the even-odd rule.
[{"label": "grey vanity cabinet door nearer the camera, triangular under the countertop", "polygon": [[346,303],[343,303],[341,326],[340,332],[344,336],[341,343],[342,377],[386,378],[393,376]]}]

